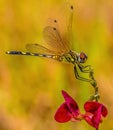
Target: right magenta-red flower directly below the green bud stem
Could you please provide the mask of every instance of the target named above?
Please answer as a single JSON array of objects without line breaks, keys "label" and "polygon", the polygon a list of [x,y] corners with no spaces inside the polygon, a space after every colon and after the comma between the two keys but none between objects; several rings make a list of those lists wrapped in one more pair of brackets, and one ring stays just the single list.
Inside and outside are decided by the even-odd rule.
[{"label": "right magenta-red flower directly below the green bud stem", "polygon": [[99,123],[102,122],[102,116],[106,117],[108,114],[107,108],[98,102],[86,102],[84,104],[84,109],[86,114],[84,115],[84,119],[91,126],[95,127],[98,130]]}]

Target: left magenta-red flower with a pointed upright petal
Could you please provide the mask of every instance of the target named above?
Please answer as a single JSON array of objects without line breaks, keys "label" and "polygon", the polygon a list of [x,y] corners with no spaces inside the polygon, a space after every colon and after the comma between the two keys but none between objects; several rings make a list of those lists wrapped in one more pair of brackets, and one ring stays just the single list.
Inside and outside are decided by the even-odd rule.
[{"label": "left magenta-red flower with a pointed upright petal", "polygon": [[79,120],[80,111],[77,103],[74,99],[69,96],[65,91],[62,90],[62,95],[65,102],[58,108],[54,118],[60,123],[64,123],[70,120]]}]

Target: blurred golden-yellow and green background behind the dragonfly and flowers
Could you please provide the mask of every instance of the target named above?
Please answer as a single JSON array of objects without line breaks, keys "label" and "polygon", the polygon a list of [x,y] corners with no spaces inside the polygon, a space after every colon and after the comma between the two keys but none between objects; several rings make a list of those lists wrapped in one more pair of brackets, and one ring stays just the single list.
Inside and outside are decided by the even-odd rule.
[{"label": "blurred golden-yellow and green background behind the dragonfly and flowers", "polygon": [[26,51],[26,43],[43,45],[48,18],[59,16],[59,22],[66,23],[66,2],[75,7],[72,48],[88,55],[86,64],[94,68],[100,102],[109,111],[100,130],[113,129],[113,0],[0,0],[0,130],[94,130],[85,121],[54,120],[64,101],[62,89],[82,112],[94,93],[90,84],[75,79],[73,65],[5,54]]}]

